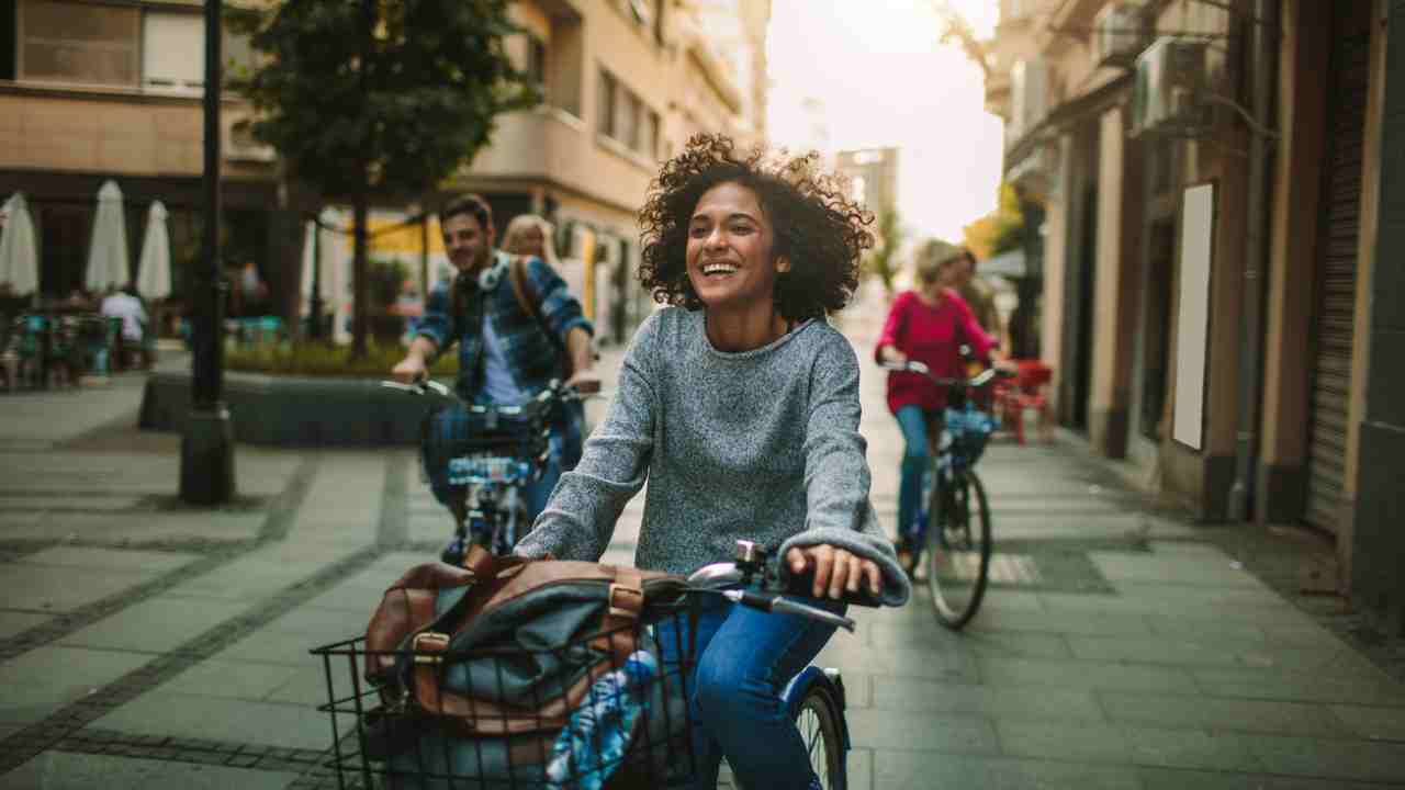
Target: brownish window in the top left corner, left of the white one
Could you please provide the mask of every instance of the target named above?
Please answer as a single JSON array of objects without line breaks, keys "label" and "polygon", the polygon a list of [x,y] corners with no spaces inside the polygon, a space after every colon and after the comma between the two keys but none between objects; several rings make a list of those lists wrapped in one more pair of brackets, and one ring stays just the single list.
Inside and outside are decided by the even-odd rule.
[{"label": "brownish window in the top left corner, left of the white one", "polygon": [[21,76],[30,80],[136,87],[140,10],[25,0]]}]

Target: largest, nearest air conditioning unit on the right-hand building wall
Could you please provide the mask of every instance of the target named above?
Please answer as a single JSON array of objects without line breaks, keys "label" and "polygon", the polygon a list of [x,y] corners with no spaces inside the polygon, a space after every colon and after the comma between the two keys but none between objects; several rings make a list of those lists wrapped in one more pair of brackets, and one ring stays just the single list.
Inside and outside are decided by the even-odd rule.
[{"label": "largest, nearest air conditioning unit on the right-hand building wall", "polygon": [[1197,136],[1210,128],[1205,42],[1158,38],[1137,58],[1131,135]]}]

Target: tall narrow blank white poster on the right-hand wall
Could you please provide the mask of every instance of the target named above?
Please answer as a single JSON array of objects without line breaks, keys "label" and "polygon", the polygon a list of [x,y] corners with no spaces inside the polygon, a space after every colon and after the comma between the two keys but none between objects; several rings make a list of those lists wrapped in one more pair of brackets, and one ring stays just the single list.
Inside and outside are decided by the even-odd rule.
[{"label": "tall narrow blank white poster on the right-hand wall", "polygon": [[1215,186],[1186,187],[1180,208],[1180,288],[1176,311],[1176,413],[1172,437],[1194,450],[1204,440],[1205,349]]}]

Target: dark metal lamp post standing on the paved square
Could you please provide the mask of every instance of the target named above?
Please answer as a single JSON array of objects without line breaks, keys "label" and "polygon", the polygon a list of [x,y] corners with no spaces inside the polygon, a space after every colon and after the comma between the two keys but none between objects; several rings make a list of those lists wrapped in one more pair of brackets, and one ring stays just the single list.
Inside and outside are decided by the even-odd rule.
[{"label": "dark metal lamp post standing on the paved square", "polygon": [[235,430],[225,406],[225,290],[219,270],[221,0],[205,0],[205,228],[197,277],[190,420],[180,447],[180,498],[218,505],[235,495]]}]

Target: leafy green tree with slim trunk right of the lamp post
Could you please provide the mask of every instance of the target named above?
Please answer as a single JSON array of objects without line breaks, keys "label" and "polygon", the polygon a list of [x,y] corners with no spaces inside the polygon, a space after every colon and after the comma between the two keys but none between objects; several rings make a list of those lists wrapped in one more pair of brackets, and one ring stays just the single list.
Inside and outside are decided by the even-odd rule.
[{"label": "leafy green tree with slim trunk right of the lamp post", "polygon": [[232,10],[263,55],[230,87],[289,177],[354,214],[353,356],[365,354],[372,197],[433,190],[488,145],[500,112],[540,101],[503,39],[509,0],[284,0]]}]

